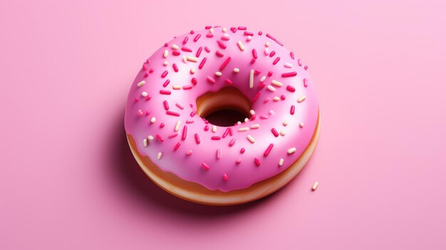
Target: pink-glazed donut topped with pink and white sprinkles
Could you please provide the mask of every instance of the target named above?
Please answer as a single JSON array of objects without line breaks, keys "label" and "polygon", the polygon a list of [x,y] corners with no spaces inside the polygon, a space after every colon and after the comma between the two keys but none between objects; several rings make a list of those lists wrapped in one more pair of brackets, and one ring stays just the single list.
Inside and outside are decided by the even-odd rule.
[{"label": "pink-glazed donut topped with pink and white sprinkles", "polygon": [[[162,189],[199,204],[275,192],[318,141],[307,69],[274,36],[244,26],[176,36],[142,63],[128,93],[125,132],[135,160]],[[225,110],[242,119],[209,119]]]}]

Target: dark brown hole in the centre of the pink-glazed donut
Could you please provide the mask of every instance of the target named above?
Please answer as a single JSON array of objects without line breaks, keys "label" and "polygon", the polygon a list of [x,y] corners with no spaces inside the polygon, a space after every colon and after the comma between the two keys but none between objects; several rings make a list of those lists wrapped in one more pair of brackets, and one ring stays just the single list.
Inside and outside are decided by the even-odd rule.
[{"label": "dark brown hole in the centre of the pink-glazed donut", "polygon": [[225,87],[207,92],[197,98],[197,115],[212,125],[230,127],[250,119],[252,103],[238,88]]}]

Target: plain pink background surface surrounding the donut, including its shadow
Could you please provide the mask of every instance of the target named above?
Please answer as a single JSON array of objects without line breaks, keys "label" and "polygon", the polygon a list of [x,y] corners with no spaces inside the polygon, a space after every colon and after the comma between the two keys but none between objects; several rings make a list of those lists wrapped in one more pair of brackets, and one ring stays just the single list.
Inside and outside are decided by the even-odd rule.
[{"label": "plain pink background surface surrounding the donut, including its shadow", "polygon": [[[446,248],[445,1],[89,2],[0,2],[0,249]],[[311,162],[238,207],[163,192],[123,130],[142,62],[208,24],[274,33],[320,98]]]}]

